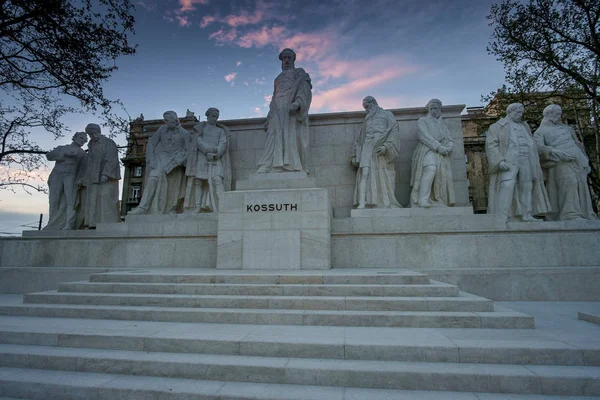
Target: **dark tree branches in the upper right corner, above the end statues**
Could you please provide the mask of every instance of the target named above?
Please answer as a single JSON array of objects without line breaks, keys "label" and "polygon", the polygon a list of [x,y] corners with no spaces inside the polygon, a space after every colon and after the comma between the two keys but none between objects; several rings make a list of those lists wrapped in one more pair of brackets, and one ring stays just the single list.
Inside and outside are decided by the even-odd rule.
[{"label": "dark tree branches in the upper right corner, above the end statues", "polygon": [[592,160],[590,184],[600,194],[600,0],[504,0],[488,20],[488,53],[504,64],[508,84],[500,94],[530,106],[525,117],[533,125],[550,103],[570,113]]}]

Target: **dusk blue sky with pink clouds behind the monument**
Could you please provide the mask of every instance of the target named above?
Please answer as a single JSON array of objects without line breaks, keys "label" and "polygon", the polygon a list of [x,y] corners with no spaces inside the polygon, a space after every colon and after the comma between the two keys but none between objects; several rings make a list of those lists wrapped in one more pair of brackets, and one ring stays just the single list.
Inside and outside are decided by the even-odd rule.
[{"label": "dusk blue sky with pink clouds behind the monument", "polygon": [[[221,119],[264,117],[281,71],[277,55],[291,47],[296,66],[312,78],[313,113],[361,109],[366,95],[384,108],[424,106],[432,97],[477,106],[504,83],[502,65],[486,51],[494,2],[136,1],[137,54],[117,61],[105,90],[132,118],[158,119],[166,110],[183,116],[186,109],[204,118],[211,106]],[[96,118],[66,121],[75,132]],[[51,149],[70,136],[35,139]],[[116,141],[125,144],[124,135]],[[0,232],[20,232],[9,212],[35,221],[48,212],[47,196],[0,192]]]}]

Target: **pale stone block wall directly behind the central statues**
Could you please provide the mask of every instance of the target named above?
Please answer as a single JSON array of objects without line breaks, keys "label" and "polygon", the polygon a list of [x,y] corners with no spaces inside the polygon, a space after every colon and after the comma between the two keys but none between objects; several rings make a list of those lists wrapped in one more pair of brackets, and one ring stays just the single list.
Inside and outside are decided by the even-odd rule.
[{"label": "pale stone block wall directly behind the central statues", "polygon": [[[453,178],[456,191],[456,202],[459,206],[469,205],[468,184],[465,166],[465,152],[462,135],[460,113],[464,105],[444,106],[443,117],[454,137]],[[390,110],[400,125],[401,154],[396,160],[396,197],[406,206],[410,196],[411,160],[418,143],[417,120],[427,114],[425,107]],[[316,178],[319,188],[329,190],[329,198],[334,207],[335,217],[349,217],[353,203],[353,191],[356,179],[356,168],[349,161],[352,143],[360,132],[364,111],[312,114],[310,115],[310,154],[308,168],[312,177]],[[185,123],[183,123],[185,122]],[[233,169],[233,187],[236,180],[246,180],[256,172],[256,165],[262,155],[266,134],[263,131],[264,118],[220,121],[231,131],[230,156]],[[185,128],[193,123],[183,121]],[[138,143],[158,129],[161,122],[147,121],[145,132],[137,134]],[[133,133],[133,132],[132,132]],[[131,165],[126,163],[127,168]],[[125,176],[131,176],[130,171]],[[124,196],[129,187],[124,182]],[[143,189],[142,189],[143,190]]]}]

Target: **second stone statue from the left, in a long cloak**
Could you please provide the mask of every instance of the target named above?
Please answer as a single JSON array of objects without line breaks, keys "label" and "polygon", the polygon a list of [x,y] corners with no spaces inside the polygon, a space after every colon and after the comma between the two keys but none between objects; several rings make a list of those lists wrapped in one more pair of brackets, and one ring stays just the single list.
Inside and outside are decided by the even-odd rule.
[{"label": "second stone statue from the left, in a long cloak", "polygon": [[119,222],[121,168],[116,143],[100,133],[98,124],[88,124],[90,137],[84,184],[87,186],[85,224],[95,229],[100,222]]}]

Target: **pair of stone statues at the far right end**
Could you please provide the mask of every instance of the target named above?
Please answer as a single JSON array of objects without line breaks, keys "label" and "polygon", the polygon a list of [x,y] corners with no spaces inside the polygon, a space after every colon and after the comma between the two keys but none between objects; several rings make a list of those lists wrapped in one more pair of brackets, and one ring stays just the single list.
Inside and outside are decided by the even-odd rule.
[{"label": "pair of stone statues at the far right end", "polygon": [[522,120],[524,111],[520,103],[509,105],[506,117],[488,130],[488,213],[525,222],[536,221],[535,216],[597,219],[587,186],[589,159],[573,128],[561,122],[561,107],[551,104],[544,109],[533,137]]}]

